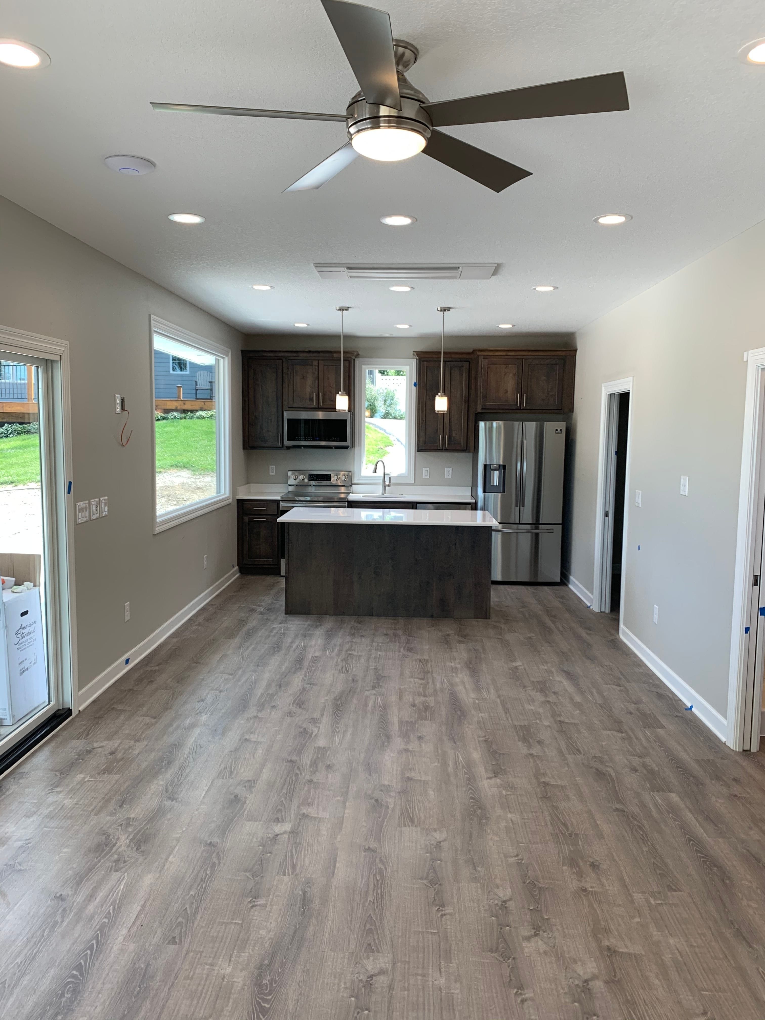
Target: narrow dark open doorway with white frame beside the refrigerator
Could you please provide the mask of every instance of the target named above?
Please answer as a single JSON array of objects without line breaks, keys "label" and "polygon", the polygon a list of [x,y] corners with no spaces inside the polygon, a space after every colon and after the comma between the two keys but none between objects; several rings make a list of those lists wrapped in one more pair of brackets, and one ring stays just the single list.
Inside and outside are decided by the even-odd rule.
[{"label": "narrow dark open doorway with white frame beside the refrigerator", "polygon": [[624,549],[627,533],[627,487],[632,380],[603,387],[598,466],[593,608],[618,614],[624,599]]}]

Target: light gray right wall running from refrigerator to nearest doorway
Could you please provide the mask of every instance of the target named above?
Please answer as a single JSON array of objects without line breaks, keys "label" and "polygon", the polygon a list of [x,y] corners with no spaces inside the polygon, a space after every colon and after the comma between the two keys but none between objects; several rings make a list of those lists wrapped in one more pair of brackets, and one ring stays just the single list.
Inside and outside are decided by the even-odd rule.
[{"label": "light gray right wall running from refrigerator to nearest doorway", "polygon": [[[570,573],[593,591],[601,388],[631,375],[624,625],[723,717],[747,376],[743,354],[765,346],[763,279],[760,223],[576,338]],[[679,494],[681,474],[688,475],[687,497]],[[640,508],[636,489],[643,492]]]}]

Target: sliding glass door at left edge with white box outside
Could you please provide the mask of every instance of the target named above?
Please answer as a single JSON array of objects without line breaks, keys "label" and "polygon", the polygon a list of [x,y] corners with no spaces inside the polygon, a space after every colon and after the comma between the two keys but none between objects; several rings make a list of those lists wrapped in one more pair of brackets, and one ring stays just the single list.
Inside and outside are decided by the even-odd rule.
[{"label": "sliding glass door at left edge with white box outside", "polygon": [[[56,342],[8,333],[0,328],[0,772],[71,715],[74,675],[65,369]],[[53,356],[36,356],[41,347]]]}]

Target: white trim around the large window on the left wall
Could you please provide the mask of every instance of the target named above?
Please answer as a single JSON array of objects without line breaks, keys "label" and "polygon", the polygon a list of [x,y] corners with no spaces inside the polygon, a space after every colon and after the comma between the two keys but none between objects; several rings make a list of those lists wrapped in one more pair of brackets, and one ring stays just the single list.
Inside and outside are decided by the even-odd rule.
[{"label": "white trim around the large window on the left wall", "polygon": [[[207,340],[205,337],[198,337],[188,329],[173,325],[165,319],[156,315],[150,316],[149,329],[149,414],[150,414],[150,435],[151,435],[151,495],[152,513],[154,520],[154,534],[166,531],[176,524],[184,524],[187,520],[200,517],[202,514],[217,510],[218,507],[227,506],[232,502],[232,352],[227,347],[216,344],[214,340]],[[215,462],[218,476],[218,488],[220,492],[215,496],[210,496],[206,500],[198,500],[196,503],[189,503],[176,510],[167,513],[157,514],[157,450],[156,431],[154,422],[154,334],[159,333],[170,340],[177,340],[182,344],[190,344],[198,347],[207,354],[212,354],[221,360],[220,378],[215,379],[215,418],[216,418],[216,451]]]}]

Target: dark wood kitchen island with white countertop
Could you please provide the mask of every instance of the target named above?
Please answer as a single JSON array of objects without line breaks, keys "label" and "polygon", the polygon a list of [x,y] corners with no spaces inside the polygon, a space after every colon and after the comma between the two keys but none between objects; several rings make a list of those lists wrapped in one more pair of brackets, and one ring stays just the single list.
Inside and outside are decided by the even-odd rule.
[{"label": "dark wood kitchen island with white countertop", "polygon": [[311,508],[286,525],[285,612],[489,619],[484,511]]}]

